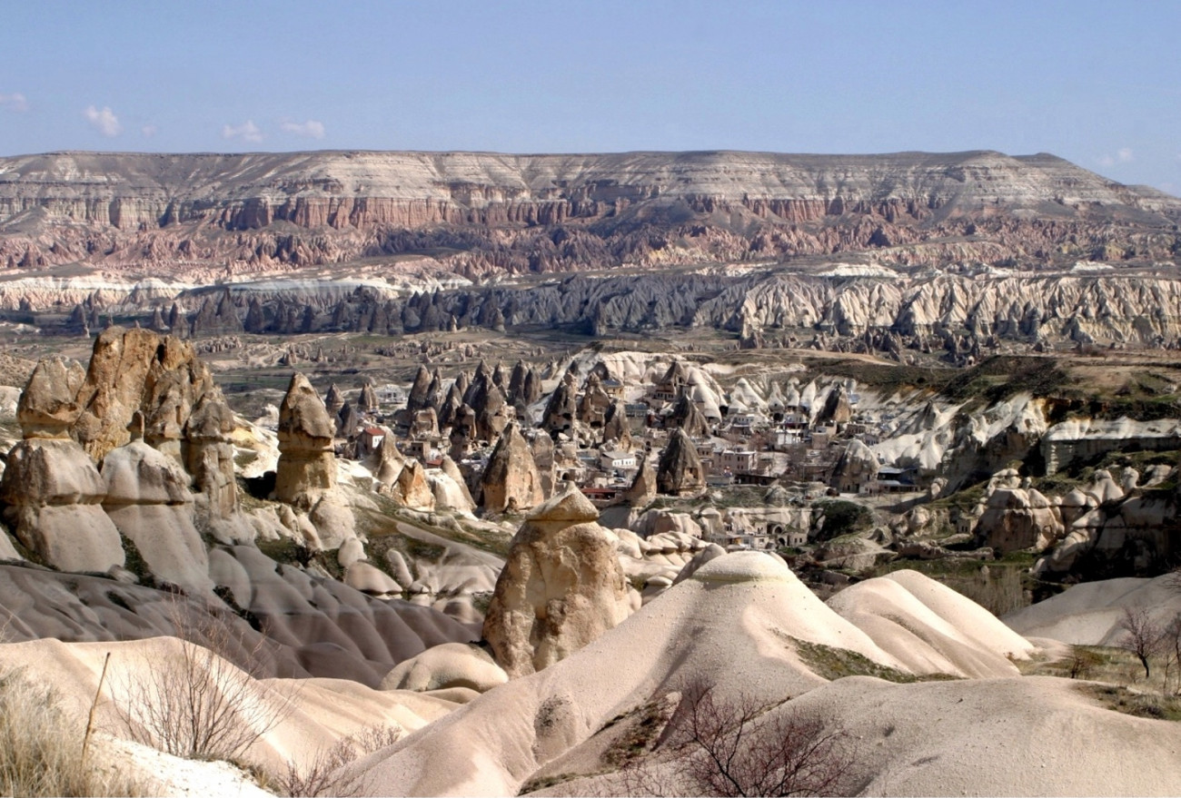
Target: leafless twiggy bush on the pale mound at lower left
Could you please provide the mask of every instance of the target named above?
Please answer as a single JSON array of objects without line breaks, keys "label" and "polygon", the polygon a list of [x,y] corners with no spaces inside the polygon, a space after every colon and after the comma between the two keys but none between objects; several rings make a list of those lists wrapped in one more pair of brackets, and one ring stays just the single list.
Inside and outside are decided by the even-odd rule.
[{"label": "leafless twiggy bush on the pale mound at lower left", "polygon": [[[182,643],[115,680],[116,713],[137,743],[200,759],[236,760],[294,708],[294,682],[259,681],[266,639],[172,606]],[[200,643],[196,641],[201,641]],[[246,668],[228,658],[244,661]]]}]

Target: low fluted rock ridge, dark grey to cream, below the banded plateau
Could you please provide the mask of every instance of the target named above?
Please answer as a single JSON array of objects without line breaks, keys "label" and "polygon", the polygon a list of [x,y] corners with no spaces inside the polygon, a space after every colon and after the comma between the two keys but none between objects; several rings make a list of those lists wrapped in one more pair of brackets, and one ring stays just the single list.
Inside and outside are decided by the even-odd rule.
[{"label": "low fluted rock ridge, dark grey to cream, below the banded plateau", "polygon": [[[711,327],[757,331],[757,345],[765,347],[885,353],[899,360],[913,351],[957,364],[1005,347],[1181,345],[1181,280],[1105,267],[1096,274],[1044,275],[996,269],[911,275],[877,269],[861,276],[788,270],[570,276],[543,284],[471,286],[409,296],[367,286],[344,299],[313,284],[292,288],[279,299],[269,289],[254,288],[247,282],[182,295],[182,305],[217,307],[221,315],[182,315],[189,320],[181,332],[217,335],[227,325],[239,325],[260,334],[400,335],[508,325],[567,326],[609,335]],[[263,295],[272,299],[263,301]],[[138,312],[148,323],[146,308]],[[235,314],[240,321],[218,321]],[[203,319],[213,321],[205,325]],[[429,385],[420,387],[425,392]],[[437,411],[443,406],[441,398],[425,393],[422,404]]]}]

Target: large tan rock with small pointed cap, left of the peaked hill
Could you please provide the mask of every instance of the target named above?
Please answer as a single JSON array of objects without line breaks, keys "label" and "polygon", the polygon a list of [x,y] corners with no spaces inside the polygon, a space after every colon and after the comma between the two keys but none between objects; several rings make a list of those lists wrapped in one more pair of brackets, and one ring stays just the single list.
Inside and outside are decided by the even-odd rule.
[{"label": "large tan rock with small pointed cap, left of the peaked hill", "polygon": [[536,510],[513,538],[484,619],[484,637],[511,676],[557,662],[631,611],[616,538],[575,488]]}]

